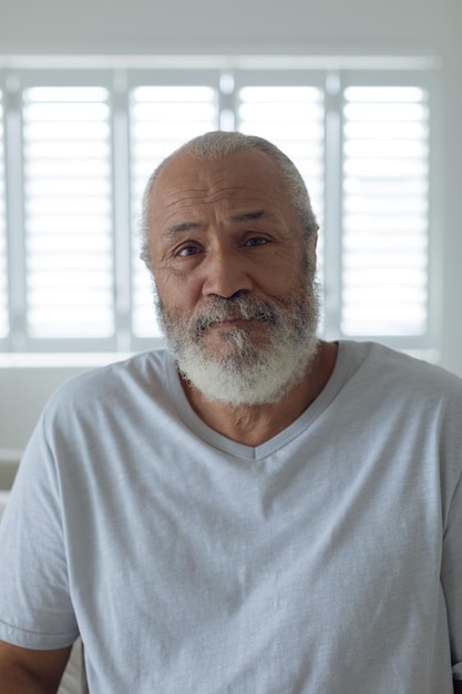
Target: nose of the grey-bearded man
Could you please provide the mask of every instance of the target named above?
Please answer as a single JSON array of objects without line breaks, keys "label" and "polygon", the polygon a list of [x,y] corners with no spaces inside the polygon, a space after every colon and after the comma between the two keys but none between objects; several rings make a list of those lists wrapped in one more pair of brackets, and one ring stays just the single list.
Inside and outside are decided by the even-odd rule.
[{"label": "nose of the grey-bearded man", "polygon": [[238,248],[209,249],[202,269],[205,297],[229,298],[253,288],[249,268]]}]

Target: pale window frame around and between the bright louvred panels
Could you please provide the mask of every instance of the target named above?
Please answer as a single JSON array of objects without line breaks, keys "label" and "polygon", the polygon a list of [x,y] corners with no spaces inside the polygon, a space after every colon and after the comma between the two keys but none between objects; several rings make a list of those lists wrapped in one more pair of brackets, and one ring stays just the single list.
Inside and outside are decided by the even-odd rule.
[{"label": "pale window frame around and between the bright louvred panels", "polygon": [[[316,61],[315,61],[316,62]],[[132,353],[152,349],[163,345],[158,337],[138,337],[132,334],[132,247],[137,229],[133,231],[134,220],[138,216],[141,201],[133,203],[131,194],[131,142],[130,142],[130,100],[131,90],[141,85],[187,85],[204,84],[217,92],[218,113],[225,109],[236,112],[238,90],[248,84],[319,86],[325,91],[325,267],[322,303],[325,310],[322,337],[326,339],[373,339],[391,347],[404,350],[438,349],[440,331],[440,279],[441,265],[441,198],[442,163],[439,160],[438,142],[441,142],[440,113],[438,109],[438,69],[431,61],[417,62],[415,67],[397,61],[391,64],[363,58],[352,67],[329,64],[319,60],[307,67],[300,61],[288,61],[286,68],[265,67],[264,61],[245,61],[222,58],[216,61],[182,60],[160,61],[160,64],[145,65],[120,64],[116,67],[38,67],[0,69],[0,89],[3,93],[4,131],[4,176],[7,198],[7,268],[8,297],[10,313],[10,334],[0,338],[0,351],[4,353]],[[90,61],[91,63],[91,61]],[[191,67],[186,67],[191,63]],[[338,61],[339,63],[339,61]],[[220,90],[224,74],[233,74],[235,89],[232,93]],[[341,310],[341,153],[342,153],[342,93],[349,85],[418,85],[428,91],[429,115],[429,232],[428,232],[428,323],[427,333],[420,336],[345,336],[340,329]],[[32,338],[25,326],[25,265],[24,265],[24,200],[23,200],[23,150],[21,92],[30,86],[104,86],[110,93],[111,142],[112,142],[112,228],[114,266],[114,335],[109,338]],[[219,123],[217,123],[217,126]],[[236,123],[236,125],[238,125]],[[134,206],[135,205],[135,206]],[[316,211],[315,211],[316,212]],[[14,233],[13,231],[14,229]],[[153,322],[154,322],[153,308]]]}]

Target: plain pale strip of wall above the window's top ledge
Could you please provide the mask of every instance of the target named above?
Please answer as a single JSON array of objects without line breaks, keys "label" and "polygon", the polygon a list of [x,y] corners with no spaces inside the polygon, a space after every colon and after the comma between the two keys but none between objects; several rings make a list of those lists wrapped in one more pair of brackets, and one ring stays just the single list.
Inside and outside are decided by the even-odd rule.
[{"label": "plain pale strip of wall above the window's top ledge", "polygon": [[461,30],[459,0],[2,0],[0,8],[0,41],[16,52],[207,51],[223,41],[255,50],[260,42],[299,41],[309,51],[315,42],[353,50],[411,43],[445,52]]}]

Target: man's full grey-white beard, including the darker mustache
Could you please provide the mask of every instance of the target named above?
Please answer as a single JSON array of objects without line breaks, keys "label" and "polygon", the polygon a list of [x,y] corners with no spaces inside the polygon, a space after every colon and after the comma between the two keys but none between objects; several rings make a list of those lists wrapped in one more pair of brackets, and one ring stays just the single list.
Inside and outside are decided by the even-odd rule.
[{"label": "man's full grey-white beard, including the darker mustache", "polygon": [[[198,318],[173,316],[157,299],[157,314],[178,370],[208,400],[238,407],[277,402],[304,378],[318,350],[318,299],[308,283],[285,297],[284,305],[243,295],[215,297]],[[261,320],[266,339],[256,346],[251,329],[222,334],[222,354],[211,354],[204,333],[214,322],[235,318]]]}]

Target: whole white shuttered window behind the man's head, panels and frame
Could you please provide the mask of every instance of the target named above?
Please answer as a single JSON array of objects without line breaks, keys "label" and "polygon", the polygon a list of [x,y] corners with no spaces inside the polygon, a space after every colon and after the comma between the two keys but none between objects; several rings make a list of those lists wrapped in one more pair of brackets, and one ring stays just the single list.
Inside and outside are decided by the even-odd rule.
[{"label": "whole white shuttered window behind the man's head, panels and frame", "polygon": [[143,190],[174,149],[219,126],[275,142],[307,183],[321,227],[322,335],[438,348],[432,70],[3,72],[0,349],[158,344],[138,258]]}]

